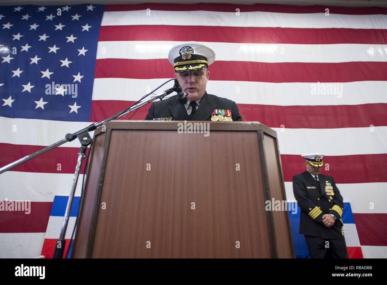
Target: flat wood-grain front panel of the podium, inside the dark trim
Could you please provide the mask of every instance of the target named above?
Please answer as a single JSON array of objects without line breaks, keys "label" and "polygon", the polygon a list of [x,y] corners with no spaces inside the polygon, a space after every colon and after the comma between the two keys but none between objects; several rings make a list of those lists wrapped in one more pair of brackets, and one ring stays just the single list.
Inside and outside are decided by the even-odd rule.
[{"label": "flat wood-grain front panel of the podium, inside the dark trim", "polygon": [[112,130],[91,257],[271,257],[257,140]]}]

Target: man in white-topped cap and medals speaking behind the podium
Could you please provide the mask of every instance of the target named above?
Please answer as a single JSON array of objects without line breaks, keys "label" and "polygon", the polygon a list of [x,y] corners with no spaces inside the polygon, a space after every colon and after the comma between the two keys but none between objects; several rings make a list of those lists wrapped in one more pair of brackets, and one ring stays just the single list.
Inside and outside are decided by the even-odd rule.
[{"label": "man in white-topped cap and medals speaking behind the podium", "polygon": [[188,94],[185,105],[178,103],[177,95],[154,102],[146,120],[157,121],[242,121],[235,102],[208,94],[205,91],[215,52],[206,45],[188,41],[171,48],[168,59],[175,70],[175,78]]}]

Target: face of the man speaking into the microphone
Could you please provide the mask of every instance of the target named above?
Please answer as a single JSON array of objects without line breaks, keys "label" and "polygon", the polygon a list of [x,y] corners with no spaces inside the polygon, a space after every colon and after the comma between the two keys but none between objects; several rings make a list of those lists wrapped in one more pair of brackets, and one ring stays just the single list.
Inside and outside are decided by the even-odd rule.
[{"label": "face of the man speaking into the microphone", "polygon": [[197,71],[185,71],[175,73],[183,91],[188,94],[188,100],[196,101],[202,98],[207,86],[209,71],[207,68]]}]

